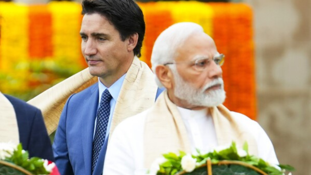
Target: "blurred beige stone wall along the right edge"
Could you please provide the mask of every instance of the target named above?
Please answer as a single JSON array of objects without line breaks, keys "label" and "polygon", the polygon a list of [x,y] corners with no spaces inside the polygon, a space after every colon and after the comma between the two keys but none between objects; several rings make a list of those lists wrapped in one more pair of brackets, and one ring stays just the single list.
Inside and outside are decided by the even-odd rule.
[{"label": "blurred beige stone wall along the right edge", "polygon": [[311,1],[244,0],[254,12],[258,120],[280,163],[311,174]]}]

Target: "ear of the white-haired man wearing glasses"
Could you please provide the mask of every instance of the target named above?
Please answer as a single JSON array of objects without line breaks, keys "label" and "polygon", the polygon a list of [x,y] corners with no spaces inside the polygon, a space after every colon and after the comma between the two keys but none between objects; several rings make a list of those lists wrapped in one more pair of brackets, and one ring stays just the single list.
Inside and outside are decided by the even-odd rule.
[{"label": "ear of the white-haired man wearing glasses", "polygon": [[158,65],[155,73],[166,89],[171,89],[173,87],[173,74],[167,66]]}]

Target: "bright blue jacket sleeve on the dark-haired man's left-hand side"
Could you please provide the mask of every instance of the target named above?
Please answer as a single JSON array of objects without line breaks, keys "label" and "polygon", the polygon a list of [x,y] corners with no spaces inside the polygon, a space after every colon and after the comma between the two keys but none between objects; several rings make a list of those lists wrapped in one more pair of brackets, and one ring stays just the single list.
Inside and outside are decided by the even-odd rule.
[{"label": "bright blue jacket sleeve on the dark-haired man's left-hand side", "polygon": [[69,160],[66,137],[67,107],[71,97],[68,98],[64,106],[53,142],[53,154],[55,157],[55,163],[59,173],[62,175],[73,175],[72,166]]}]

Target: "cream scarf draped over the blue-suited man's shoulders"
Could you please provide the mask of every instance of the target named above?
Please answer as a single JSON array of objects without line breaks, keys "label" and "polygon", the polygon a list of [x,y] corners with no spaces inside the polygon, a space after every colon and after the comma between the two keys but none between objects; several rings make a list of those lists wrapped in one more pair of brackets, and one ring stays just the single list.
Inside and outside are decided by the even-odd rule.
[{"label": "cream scarf draped over the blue-suited man's shoulders", "polygon": [[[51,134],[58,126],[59,117],[68,97],[96,82],[98,82],[98,78],[92,76],[89,69],[86,68],[42,92],[28,103],[42,111],[46,128]],[[126,117],[151,107],[155,102],[157,88],[154,75],[148,65],[135,56],[125,76],[114,108],[110,133]]]}]

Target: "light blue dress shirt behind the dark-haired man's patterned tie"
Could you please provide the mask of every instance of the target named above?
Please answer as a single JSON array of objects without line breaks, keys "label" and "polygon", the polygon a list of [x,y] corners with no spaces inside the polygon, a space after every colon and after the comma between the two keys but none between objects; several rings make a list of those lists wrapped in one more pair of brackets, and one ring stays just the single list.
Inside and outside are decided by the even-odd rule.
[{"label": "light blue dress shirt behind the dark-haired man's patterned tie", "polygon": [[[122,87],[125,75],[126,74],[124,74],[121,78],[119,78],[114,84],[112,84],[108,88],[108,91],[109,91],[109,93],[112,96],[112,99],[110,101],[110,115],[109,115],[109,121],[108,121],[108,126],[107,126],[106,133],[109,133],[109,131],[110,131],[110,125],[111,125],[111,121],[112,121],[112,115],[114,113],[114,107],[116,106],[117,99],[118,99],[118,96],[119,96],[119,93],[120,93],[120,90],[121,90],[121,87]],[[98,98],[99,100],[98,100],[98,107],[97,108],[99,108],[99,106],[100,106],[101,95],[107,89],[107,87],[103,83],[100,82],[99,78],[98,78],[98,89],[99,89],[99,98]],[[96,121],[97,121],[97,117],[95,119],[93,139],[94,139],[95,130],[96,130]],[[105,140],[108,138],[108,136],[109,136],[109,134],[106,134]]]}]

